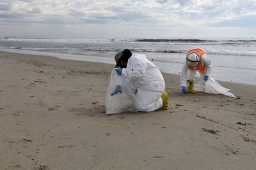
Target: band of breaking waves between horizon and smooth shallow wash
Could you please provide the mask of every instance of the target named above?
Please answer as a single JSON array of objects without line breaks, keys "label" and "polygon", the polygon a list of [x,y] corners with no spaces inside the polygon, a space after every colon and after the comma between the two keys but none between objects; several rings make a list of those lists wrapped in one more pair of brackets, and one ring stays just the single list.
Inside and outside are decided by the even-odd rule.
[{"label": "band of breaking waves between horizon and smooth shallow wash", "polygon": [[35,50],[43,52],[113,53],[129,48],[138,53],[186,53],[189,48],[202,46],[209,55],[256,56],[256,39],[196,39],[196,38],[112,38],[112,39],[47,39],[47,38],[0,38],[0,48]]}]

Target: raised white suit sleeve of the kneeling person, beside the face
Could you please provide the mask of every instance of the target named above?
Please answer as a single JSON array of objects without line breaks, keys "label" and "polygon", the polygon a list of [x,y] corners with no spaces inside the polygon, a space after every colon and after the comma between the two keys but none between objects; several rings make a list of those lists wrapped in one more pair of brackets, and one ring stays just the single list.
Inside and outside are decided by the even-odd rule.
[{"label": "raised white suit sleeve of the kneeling person, beside the face", "polygon": [[122,70],[122,76],[131,79],[140,79],[144,76],[147,69],[147,62],[137,58],[130,58],[127,68]]}]

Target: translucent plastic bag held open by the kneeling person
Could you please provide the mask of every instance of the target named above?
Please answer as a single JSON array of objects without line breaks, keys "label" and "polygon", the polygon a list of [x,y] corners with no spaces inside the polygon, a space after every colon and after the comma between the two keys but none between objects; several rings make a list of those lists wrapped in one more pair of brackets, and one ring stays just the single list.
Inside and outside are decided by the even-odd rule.
[{"label": "translucent plastic bag held open by the kneeling person", "polygon": [[[120,86],[122,93],[111,96],[111,93],[115,91],[116,86]],[[124,113],[124,112],[136,112],[134,108],[134,102],[136,102],[136,92],[131,88],[128,80],[119,76],[115,69],[111,72],[109,86],[106,94],[106,114]]]}]

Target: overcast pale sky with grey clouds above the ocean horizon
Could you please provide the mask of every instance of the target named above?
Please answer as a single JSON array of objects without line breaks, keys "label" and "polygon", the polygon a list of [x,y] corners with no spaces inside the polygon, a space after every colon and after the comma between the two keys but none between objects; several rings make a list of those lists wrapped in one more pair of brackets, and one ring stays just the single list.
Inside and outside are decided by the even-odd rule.
[{"label": "overcast pale sky with grey clouds above the ocean horizon", "polygon": [[0,0],[0,37],[256,37],[256,0]]}]

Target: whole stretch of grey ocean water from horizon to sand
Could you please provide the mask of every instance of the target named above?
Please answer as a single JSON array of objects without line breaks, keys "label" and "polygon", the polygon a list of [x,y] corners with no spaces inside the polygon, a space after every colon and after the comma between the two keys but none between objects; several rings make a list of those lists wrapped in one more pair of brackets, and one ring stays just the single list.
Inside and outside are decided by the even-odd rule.
[{"label": "whole stretch of grey ocean water from horizon to sand", "polygon": [[256,85],[255,38],[205,39],[42,39],[0,38],[6,52],[52,55],[61,59],[115,64],[115,53],[128,48],[145,53],[164,73],[180,74],[186,52],[203,48],[216,80]]}]

